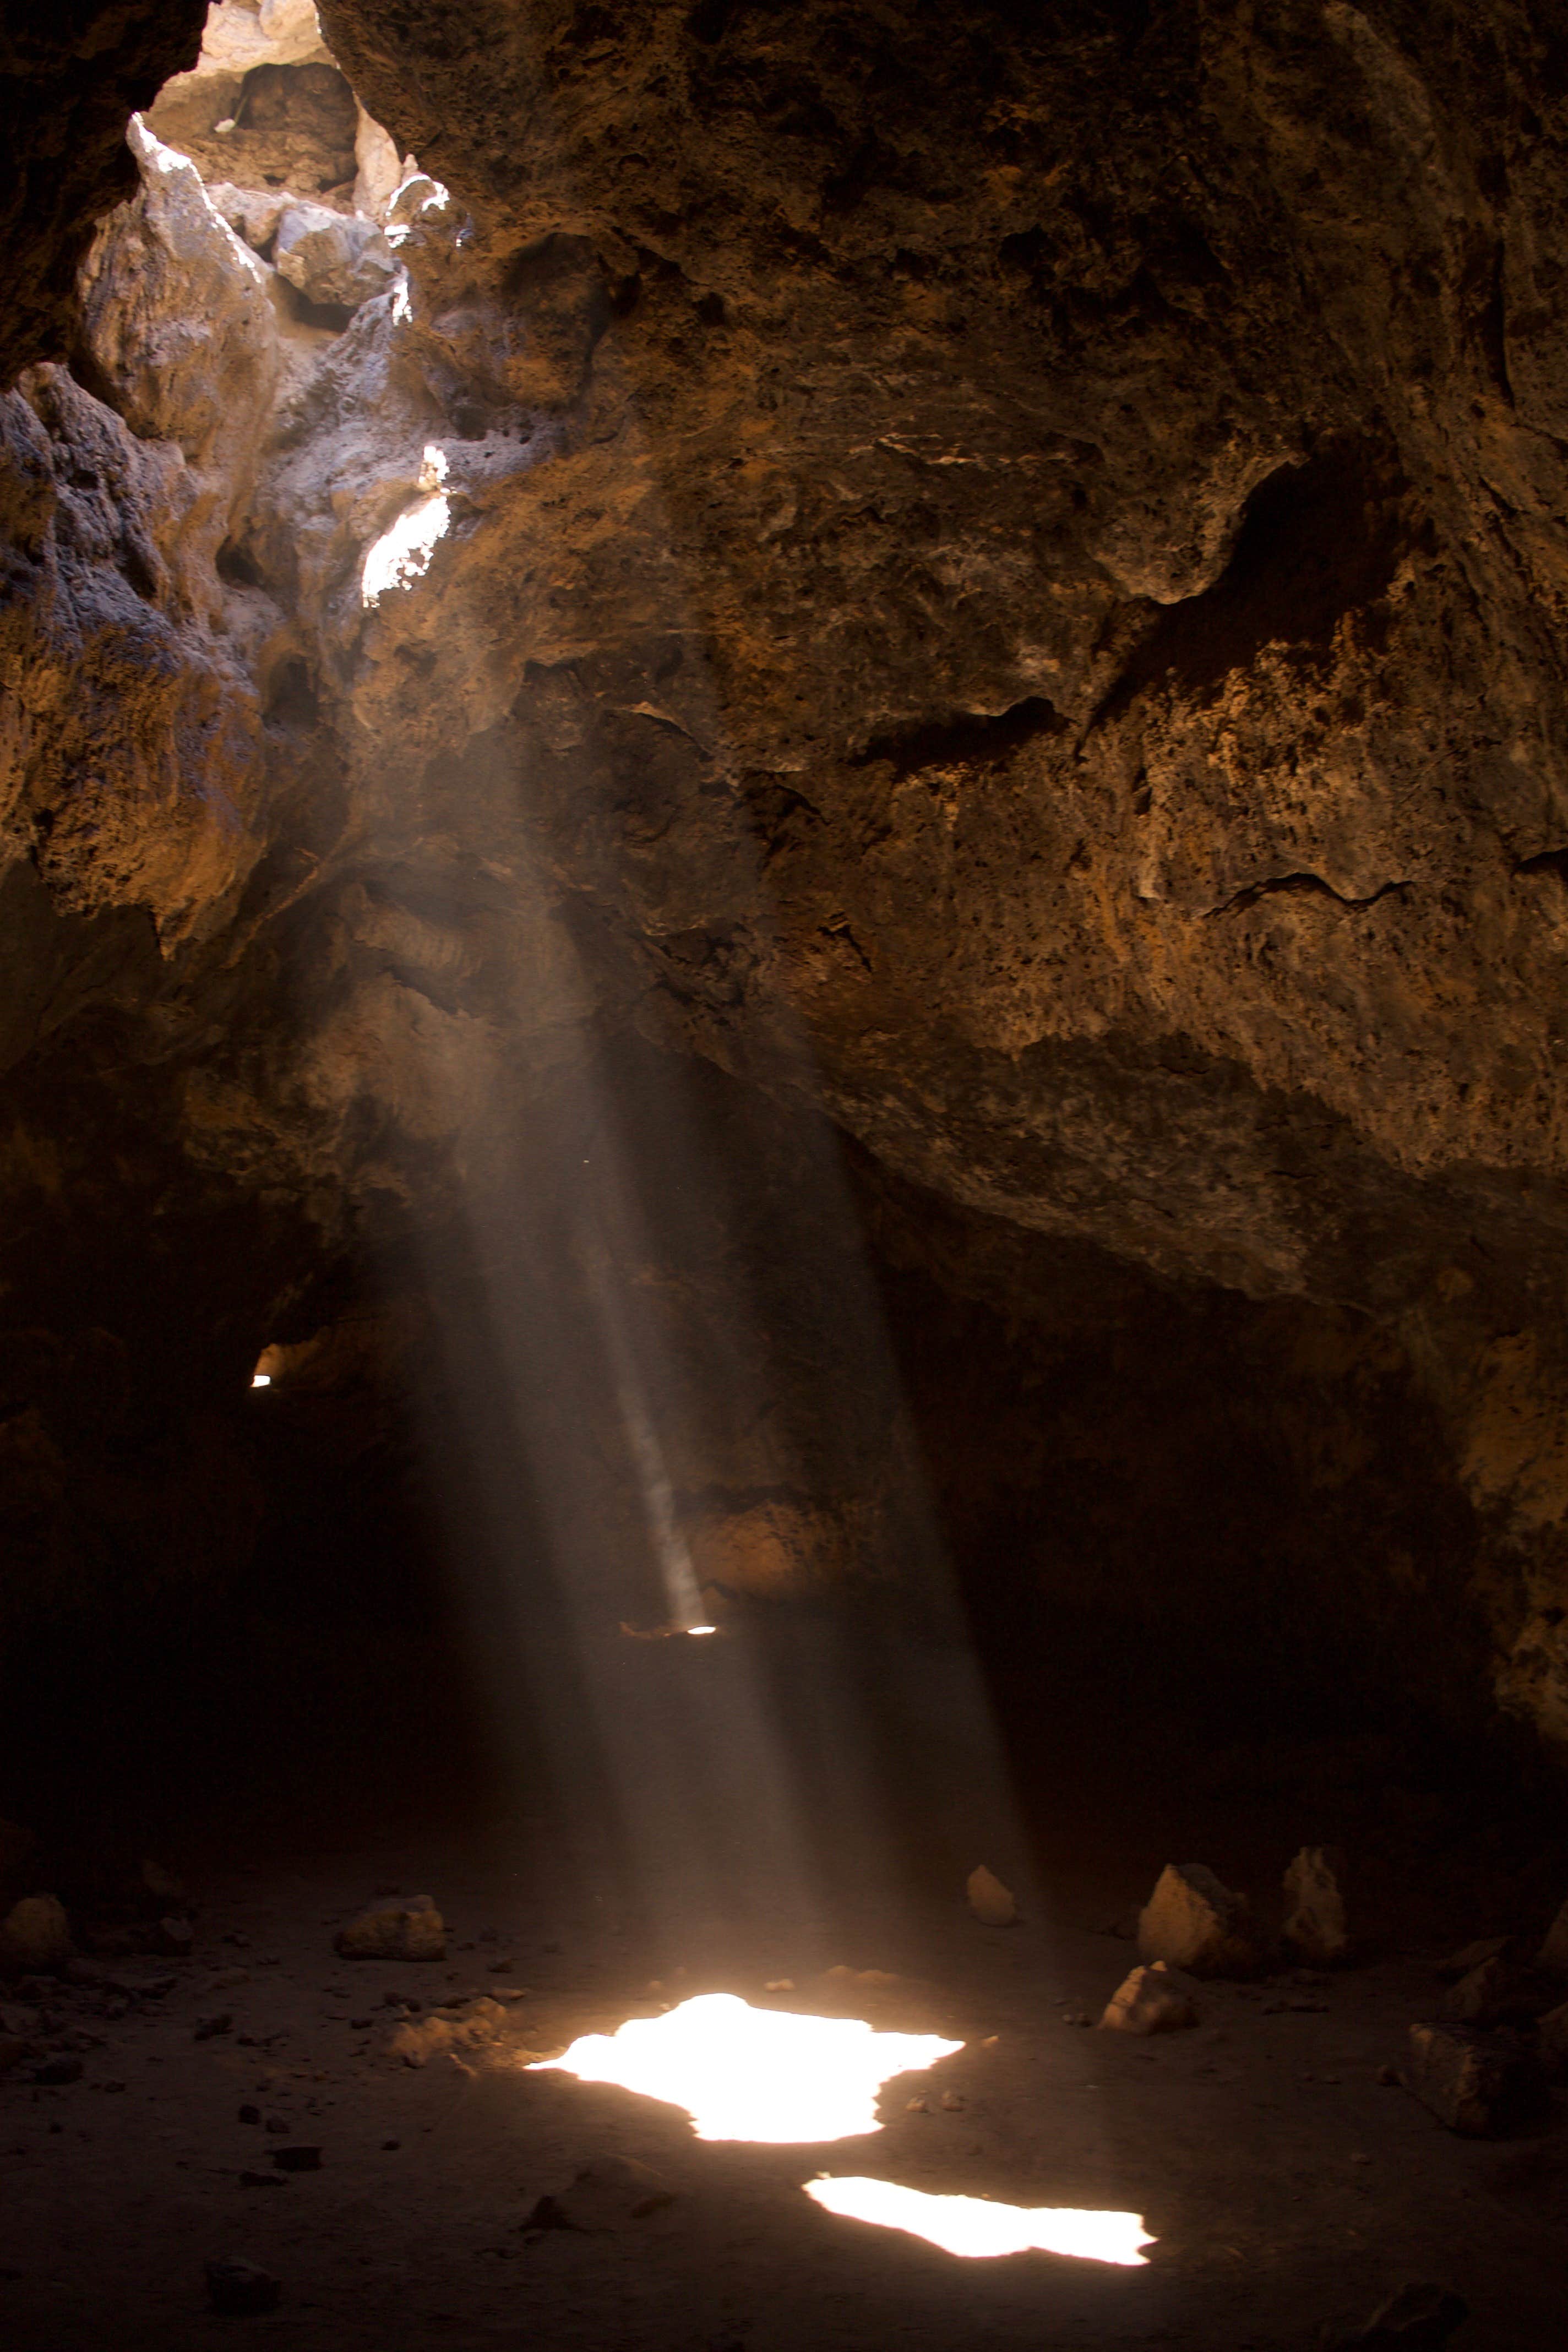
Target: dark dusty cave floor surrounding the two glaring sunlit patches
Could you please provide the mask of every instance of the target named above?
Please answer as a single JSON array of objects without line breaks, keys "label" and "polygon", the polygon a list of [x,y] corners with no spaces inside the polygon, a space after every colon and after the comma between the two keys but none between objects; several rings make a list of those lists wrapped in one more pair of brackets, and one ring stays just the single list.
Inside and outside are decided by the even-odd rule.
[{"label": "dark dusty cave floor surrounding the two glaring sunlit patches", "polygon": [[[336,1922],[393,1884],[437,1898],[447,1962],[334,1955]],[[1559,2343],[1561,2103],[1537,2138],[1467,2143],[1378,2079],[1432,2009],[1434,1955],[1206,1987],[1199,2030],[1124,2039],[1072,2023],[1098,2016],[1131,1964],[1105,1926],[1121,1893],[1065,1875],[1051,1919],[1011,1931],[940,1898],[882,1929],[870,1907],[842,1912],[842,1964],[898,1978],[851,1987],[820,1973],[820,1933],[795,1936],[783,1907],[743,1933],[693,1929],[677,1976],[668,1936],[616,1929],[592,1898],[574,1907],[524,1879],[505,1832],[463,1856],[404,1837],[294,1870],[230,1860],[200,1884],[195,1957],[106,1962],[127,1985],[167,1990],[49,1997],[56,2034],[82,2049],[80,2082],[0,2086],[0,2343],[183,2352],[249,2331],[334,2352],[1284,2352],[1366,2319],[1406,2279],[1467,2298],[1465,2352]],[[654,1973],[665,1999],[733,1990],[961,2037],[940,2084],[964,2105],[933,2096],[910,2112],[926,2084],[900,2079],[877,2136],[750,2147],[698,2143],[684,2114],[625,2091],[522,2072],[524,2053],[656,2013]],[[764,1994],[785,1976],[792,1994]],[[388,2053],[388,1997],[428,2009],[501,1987],[527,1997],[505,2002],[494,2044],[418,2070]],[[230,2025],[197,2037],[214,2016]],[[242,2122],[242,2107],[287,2131]],[[320,2171],[242,2185],[292,2143],[320,2145]],[[543,2192],[607,2152],[654,2166],[675,2199],[611,2232],[527,2227]],[[802,2194],[818,2171],[1133,2209],[1157,2244],[1140,2270],[961,2260],[818,2211]],[[205,2310],[202,2265],[223,2256],[277,2274],[275,2314]]]}]

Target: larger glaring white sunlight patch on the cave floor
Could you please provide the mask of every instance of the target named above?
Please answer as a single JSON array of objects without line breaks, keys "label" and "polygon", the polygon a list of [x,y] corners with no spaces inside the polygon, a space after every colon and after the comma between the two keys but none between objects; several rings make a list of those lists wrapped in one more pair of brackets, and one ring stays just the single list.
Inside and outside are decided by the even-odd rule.
[{"label": "larger glaring white sunlight patch on the cave floor", "polygon": [[860,2018],[797,2018],[752,2009],[733,1992],[703,1992],[663,2018],[583,2034],[529,2072],[557,2067],[663,2098],[689,2112],[698,2140],[853,2140],[882,2129],[884,2082],[961,2049],[936,2034],[882,2034]]}]

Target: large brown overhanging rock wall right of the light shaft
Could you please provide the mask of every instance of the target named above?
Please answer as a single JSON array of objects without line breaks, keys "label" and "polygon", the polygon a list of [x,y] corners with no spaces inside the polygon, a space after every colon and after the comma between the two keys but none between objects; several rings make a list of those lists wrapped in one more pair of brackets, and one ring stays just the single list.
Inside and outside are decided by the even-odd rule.
[{"label": "large brown overhanging rock wall right of the light shaft", "polygon": [[494,616],[557,868],[879,1164],[1399,1348],[1568,1729],[1547,16],[324,24],[517,256],[430,339],[588,428]]}]

